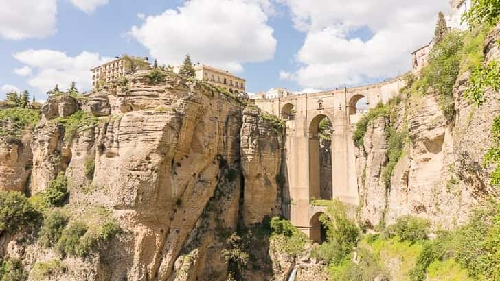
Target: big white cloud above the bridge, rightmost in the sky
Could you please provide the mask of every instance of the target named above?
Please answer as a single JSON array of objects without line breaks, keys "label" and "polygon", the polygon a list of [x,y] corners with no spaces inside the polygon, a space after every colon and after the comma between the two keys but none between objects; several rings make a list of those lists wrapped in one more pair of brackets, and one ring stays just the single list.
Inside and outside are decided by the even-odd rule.
[{"label": "big white cloud above the bridge, rightmost in the sky", "polygon": [[[431,40],[437,12],[448,9],[446,1],[435,0],[280,1],[290,7],[295,28],[307,34],[296,56],[302,66],[280,77],[308,88],[409,71],[411,51]],[[372,38],[353,36],[359,29],[370,29]]]}]

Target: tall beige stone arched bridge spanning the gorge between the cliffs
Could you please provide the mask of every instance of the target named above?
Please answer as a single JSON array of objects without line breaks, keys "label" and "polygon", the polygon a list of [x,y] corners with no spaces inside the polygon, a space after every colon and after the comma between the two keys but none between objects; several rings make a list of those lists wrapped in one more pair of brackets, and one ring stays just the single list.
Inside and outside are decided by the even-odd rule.
[{"label": "tall beige stone arched bridge spanning the gorge between the cliffs", "polygon": [[[290,199],[286,216],[312,240],[321,241],[318,219],[322,212],[321,208],[312,206],[313,199],[335,198],[351,206],[359,204],[358,176],[361,174],[356,171],[352,133],[363,112],[356,110],[356,103],[365,97],[368,108],[374,108],[398,95],[404,84],[402,77],[397,77],[369,86],[255,100],[256,106],[286,122],[284,170],[287,173],[285,189],[289,194],[285,194],[285,198]],[[333,130],[329,198],[322,198],[320,190],[318,130],[325,117],[330,119]]]}]

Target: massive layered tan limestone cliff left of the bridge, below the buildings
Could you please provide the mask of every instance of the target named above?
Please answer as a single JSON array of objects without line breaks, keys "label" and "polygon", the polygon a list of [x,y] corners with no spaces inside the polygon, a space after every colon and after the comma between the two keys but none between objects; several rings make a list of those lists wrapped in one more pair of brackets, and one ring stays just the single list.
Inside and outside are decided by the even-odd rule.
[{"label": "massive layered tan limestone cliff left of the bridge, below the buildings", "polygon": [[[91,280],[225,280],[220,252],[240,217],[258,223],[280,210],[281,134],[271,122],[208,84],[173,74],[152,84],[148,75],[139,71],[126,86],[85,99],[52,97],[43,108],[31,141],[30,193],[65,173],[72,219],[104,208],[124,230],[98,258],[65,259],[69,269],[58,280],[78,280],[83,268]],[[78,110],[84,117],[71,134],[58,117]],[[1,163],[21,169],[16,149],[5,148]],[[17,255],[27,269],[56,256],[30,243],[18,251],[29,257]]]}]

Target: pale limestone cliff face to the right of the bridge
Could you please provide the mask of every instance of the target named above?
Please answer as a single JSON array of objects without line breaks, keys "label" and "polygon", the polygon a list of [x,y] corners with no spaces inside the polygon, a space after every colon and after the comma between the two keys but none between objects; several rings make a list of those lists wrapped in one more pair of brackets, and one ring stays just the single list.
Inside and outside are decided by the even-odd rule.
[{"label": "pale limestone cliff face to the right of the bridge", "polygon": [[[496,34],[496,35],[495,35]],[[488,60],[500,57],[488,47],[499,38],[500,28],[490,34],[485,46]],[[439,108],[437,96],[404,98],[398,109],[398,124],[407,119],[409,142],[394,168],[389,190],[380,173],[385,169],[388,119],[376,119],[368,127],[364,147],[356,153],[361,197],[360,217],[369,225],[394,223],[402,215],[418,215],[453,228],[464,222],[470,211],[487,195],[491,167],[483,167],[484,154],[491,143],[491,124],[499,115],[500,93],[486,93],[488,100],[475,106],[465,99],[470,73],[455,84],[455,117],[448,122]]]}]

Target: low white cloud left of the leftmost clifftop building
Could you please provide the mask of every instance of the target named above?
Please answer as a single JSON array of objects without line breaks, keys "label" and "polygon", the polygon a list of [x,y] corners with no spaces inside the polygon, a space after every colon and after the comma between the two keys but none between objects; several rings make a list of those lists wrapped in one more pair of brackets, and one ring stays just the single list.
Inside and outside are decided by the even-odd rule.
[{"label": "low white cloud left of the leftmost clifftop building", "polygon": [[34,76],[28,80],[28,84],[42,93],[56,84],[61,90],[65,89],[72,81],[76,82],[78,89],[89,90],[92,83],[90,69],[111,60],[87,51],[71,57],[53,50],[21,51],[15,53],[14,58],[34,69]]}]

